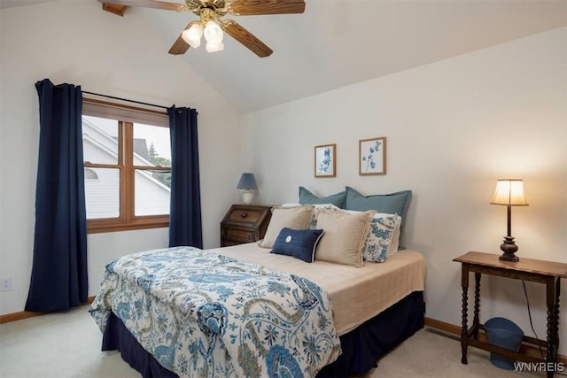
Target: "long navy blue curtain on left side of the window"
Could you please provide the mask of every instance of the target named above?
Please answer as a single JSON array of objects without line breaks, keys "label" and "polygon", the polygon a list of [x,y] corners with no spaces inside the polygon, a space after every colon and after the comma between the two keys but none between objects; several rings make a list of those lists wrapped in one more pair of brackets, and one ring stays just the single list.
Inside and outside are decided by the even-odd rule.
[{"label": "long navy blue curtain on left side of the window", "polygon": [[39,158],[35,238],[27,311],[66,310],[87,301],[87,220],[80,86],[35,83]]}]

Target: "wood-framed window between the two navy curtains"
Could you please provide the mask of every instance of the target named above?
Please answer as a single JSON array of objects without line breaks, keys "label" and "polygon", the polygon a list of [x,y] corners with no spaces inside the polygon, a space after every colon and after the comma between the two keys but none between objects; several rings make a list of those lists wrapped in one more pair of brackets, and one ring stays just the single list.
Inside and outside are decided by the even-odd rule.
[{"label": "wood-framed window between the two navy curtains", "polygon": [[89,233],[169,225],[171,150],[166,112],[83,99]]}]

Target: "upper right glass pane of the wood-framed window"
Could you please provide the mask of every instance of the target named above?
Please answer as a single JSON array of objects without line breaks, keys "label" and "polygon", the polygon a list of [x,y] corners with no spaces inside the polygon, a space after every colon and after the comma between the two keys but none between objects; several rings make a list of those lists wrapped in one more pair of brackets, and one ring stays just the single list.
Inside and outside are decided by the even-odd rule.
[{"label": "upper right glass pane of the wood-framed window", "polygon": [[134,124],[134,165],[171,166],[169,128]]}]

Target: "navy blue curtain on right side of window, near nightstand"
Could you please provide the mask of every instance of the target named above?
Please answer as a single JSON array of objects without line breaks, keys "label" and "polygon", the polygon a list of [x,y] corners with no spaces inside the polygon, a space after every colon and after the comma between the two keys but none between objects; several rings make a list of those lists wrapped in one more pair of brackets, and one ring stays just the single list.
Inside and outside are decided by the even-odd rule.
[{"label": "navy blue curtain on right side of window, near nightstand", "polygon": [[201,189],[198,174],[197,111],[167,109],[171,137],[169,246],[203,248]]}]

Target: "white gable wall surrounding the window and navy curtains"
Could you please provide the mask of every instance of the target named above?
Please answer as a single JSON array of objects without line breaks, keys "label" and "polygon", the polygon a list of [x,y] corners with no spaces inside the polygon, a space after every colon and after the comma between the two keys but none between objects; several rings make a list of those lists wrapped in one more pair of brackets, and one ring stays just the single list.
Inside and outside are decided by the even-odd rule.
[{"label": "white gable wall surrounding the window and navy curtains", "polygon": [[[24,309],[32,265],[39,138],[35,81],[198,110],[204,243],[217,247],[219,223],[238,201],[240,115],[134,15],[103,12],[97,1],[60,1],[0,10],[0,314]],[[167,246],[167,228],[89,235],[89,296],[106,263]]]}]

